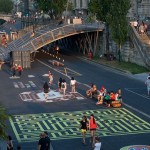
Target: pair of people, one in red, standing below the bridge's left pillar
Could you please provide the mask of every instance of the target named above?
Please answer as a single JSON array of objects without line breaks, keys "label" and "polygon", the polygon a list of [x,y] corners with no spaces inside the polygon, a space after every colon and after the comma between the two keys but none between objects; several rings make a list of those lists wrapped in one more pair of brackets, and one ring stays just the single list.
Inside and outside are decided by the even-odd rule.
[{"label": "pair of people, one in red, standing below the bridge's left pillar", "polygon": [[11,71],[12,71],[12,77],[16,77],[16,71],[18,72],[18,76],[21,77],[22,75],[22,66],[20,64],[14,64],[11,67]]}]

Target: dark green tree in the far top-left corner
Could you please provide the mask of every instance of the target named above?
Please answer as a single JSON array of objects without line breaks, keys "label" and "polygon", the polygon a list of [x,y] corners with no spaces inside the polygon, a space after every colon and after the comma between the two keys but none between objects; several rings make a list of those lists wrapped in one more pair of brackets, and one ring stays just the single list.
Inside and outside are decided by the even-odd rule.
[{"label": "dark green tree in the far top-left corner", "polygon": [[12,9],[13,9],[12,0],[0,0],[0,13],[7,13],[7,14],[11,13]]}]

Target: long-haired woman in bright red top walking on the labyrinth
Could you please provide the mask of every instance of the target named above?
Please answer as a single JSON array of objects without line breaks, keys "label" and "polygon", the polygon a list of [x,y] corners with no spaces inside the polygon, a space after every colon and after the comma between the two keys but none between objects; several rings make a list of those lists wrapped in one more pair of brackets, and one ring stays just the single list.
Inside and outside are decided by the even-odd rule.
[{"label": "long-haired woman in bright red top walking on the labyrinth", "polygon": [[95,143],[96,129],[97,129],[97,123],[96,123],[94,115],[91,114],[90,120],[89,120],[89,130],[90,130],[90,134],[91,134],[92,147],[94,147],[94,143]]}]

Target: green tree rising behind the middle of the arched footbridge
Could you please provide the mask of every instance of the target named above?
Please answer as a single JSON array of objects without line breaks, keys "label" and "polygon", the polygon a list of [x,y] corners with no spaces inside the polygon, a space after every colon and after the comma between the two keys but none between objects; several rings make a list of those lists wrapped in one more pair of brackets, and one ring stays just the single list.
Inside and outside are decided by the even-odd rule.
[{"label": "green tree rising behind the middle of the arched footbridge", "polygon": [[[66,10],[67,0],[35,0],[39,9],[50,15],[51,18],[61,17],[62,12]],[[72,3],[69,1],[68,10],[72,9]]]}]

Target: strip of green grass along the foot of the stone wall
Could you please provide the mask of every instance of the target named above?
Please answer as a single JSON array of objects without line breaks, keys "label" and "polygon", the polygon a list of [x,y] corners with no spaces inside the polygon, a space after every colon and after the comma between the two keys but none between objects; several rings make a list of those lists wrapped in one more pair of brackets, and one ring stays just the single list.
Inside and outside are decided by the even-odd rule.
[{"label": "strip of green grass along the foot of the stone wall", "polygon": [[132,74],[138,74],[138,73],[144,73],[144,72],[150,71],[143,66],[139,66],[137,64],[130,63],[130,62],[118,62],[118,60],[109,61],[109,60],[106,60],[105,58],[99,58],[99,57],[93,57],[93,60],[103,65],[107,65],[110,67],[115,67],[121,70],[128,71]]}]

